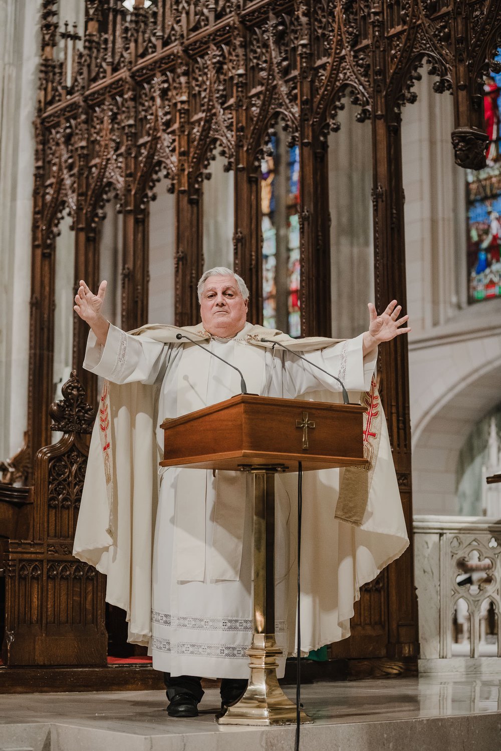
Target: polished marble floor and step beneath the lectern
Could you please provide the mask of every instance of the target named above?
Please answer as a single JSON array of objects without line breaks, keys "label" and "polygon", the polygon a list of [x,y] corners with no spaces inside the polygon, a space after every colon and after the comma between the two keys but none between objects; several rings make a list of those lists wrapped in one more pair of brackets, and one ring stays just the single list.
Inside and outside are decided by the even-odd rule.
[{"label": "polished marble floor and step beneath the lectern", "polygon": [[[288,686],[293,698],[294,688]],[[501,676],[439,674],[303,686],[301,751],[499,751]],[[195,719],[161,692],[0,696],[0,751],[293,751],[295,728],[221,728],[210,688]]]}]

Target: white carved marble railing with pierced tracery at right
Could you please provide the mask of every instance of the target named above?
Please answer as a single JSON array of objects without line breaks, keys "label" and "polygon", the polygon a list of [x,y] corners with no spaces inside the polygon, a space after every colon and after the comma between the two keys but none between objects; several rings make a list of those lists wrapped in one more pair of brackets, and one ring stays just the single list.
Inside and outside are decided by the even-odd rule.
[{"label": "white carved marble railing with pierced tracery at right", "polygon": [[501,671],[501,522],[414,517],[420,671]]}]

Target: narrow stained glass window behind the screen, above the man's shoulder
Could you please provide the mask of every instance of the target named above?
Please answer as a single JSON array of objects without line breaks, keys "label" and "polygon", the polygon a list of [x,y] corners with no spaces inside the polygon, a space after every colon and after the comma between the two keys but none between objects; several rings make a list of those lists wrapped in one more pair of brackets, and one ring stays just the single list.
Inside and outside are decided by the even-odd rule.
[{"label": "narrow stained glass window behind the screen, above the man's shoulder", "polygon": [[291,336],[301,333],[298,210],[299,149],[273,137],[261,161],[263,322]]}]

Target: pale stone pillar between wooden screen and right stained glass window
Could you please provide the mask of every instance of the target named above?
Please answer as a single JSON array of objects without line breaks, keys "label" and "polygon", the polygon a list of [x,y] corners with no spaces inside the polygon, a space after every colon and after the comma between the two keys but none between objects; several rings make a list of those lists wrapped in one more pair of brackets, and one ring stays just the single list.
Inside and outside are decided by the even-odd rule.
[{"label": "pale stone pillar between wooden screen and right stained glass window", "polygon": [[454,164],[452,98],[416,84],[403,110],[406,269],[414,333],[445,324],[466,301],[466,173]]}]

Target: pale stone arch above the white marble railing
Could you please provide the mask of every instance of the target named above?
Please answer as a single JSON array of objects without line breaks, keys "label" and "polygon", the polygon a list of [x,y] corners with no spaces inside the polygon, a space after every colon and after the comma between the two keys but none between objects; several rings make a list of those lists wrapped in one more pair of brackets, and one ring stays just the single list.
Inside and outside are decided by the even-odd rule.
[{"label": "pale stone arch above the white marble railing", "polygon": [[415,513],[457,514],[460,448],[501,394],[499,333],[496,326],[471,331],[470,337],[436,337],[424,351],[411,347]]}]

